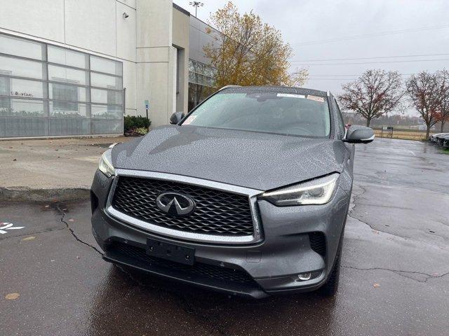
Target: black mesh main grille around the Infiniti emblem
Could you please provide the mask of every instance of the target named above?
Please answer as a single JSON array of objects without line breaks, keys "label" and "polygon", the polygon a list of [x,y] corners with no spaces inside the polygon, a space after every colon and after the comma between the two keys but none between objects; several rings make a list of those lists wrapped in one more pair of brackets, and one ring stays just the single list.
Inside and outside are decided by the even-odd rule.
[{"label": "black mesh main grille around the Infiniti emblem", "polygon": [[[208,235],[253,235],[248,196],[173,181],[119,176],[112,207],[123,214],[164,228]],[[192,214],[175,217],[156,206],[156,197],[173,192],[196,203]]]}]

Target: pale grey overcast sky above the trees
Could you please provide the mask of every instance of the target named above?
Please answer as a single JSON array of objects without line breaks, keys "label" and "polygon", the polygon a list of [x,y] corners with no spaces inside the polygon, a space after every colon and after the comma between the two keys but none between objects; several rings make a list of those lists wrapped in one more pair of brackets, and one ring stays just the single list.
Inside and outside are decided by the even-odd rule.
[{"label": "pale grey overcast sky above the trees", "polygon": [[[189,0],[173,2],[194,15]],[[233,2],[241,13],[254,10],[264,22],[281,31],[295,53],[292,70],[309,69],[306,87],[338,94],[342,83],[366,69],[397,70],[403,78],[422,70],[449,69],[449,0]],[[210,12],[226,1],[203,3],[198,18],[207,22]],[[403,57],[429,54],[446,55]],[[320,59],[335,60],[319,62]],[[410,62],[415,60],[419,62]]]}]

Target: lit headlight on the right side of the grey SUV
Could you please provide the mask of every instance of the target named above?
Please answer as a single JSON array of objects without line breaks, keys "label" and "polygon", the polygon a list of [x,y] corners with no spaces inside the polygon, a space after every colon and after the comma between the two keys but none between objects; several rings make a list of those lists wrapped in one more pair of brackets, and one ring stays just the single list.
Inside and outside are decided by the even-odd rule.
[{"label": "lit headlight on the right side of the grey SUV", "polygon": [[340,174],[330,174],[321,179],[263,193],[259,198],[279,207],[304,204],[326,204],[330,201]]}]

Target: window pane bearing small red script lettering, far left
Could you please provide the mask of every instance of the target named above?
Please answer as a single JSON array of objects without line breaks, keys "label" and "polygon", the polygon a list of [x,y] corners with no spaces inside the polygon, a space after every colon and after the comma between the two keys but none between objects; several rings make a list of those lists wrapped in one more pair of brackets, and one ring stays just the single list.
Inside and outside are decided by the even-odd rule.
[{"label": "window pane bearing small red script lettering, far left", "polygon": [[0,94],[23,98],[43,98],[43,82],[0,77]]}]

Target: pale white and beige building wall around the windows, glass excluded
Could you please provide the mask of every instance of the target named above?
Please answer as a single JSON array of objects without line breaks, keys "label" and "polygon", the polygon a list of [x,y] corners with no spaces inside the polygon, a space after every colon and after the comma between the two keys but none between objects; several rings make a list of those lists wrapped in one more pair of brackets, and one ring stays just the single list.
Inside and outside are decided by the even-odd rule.
[{"label": "pale white and beige building wall around the windows, glass excluded", "polygon": [[152,127],[187,113],[189,59],[208,62],[207,27],[171,0],[3,0],[0,10],[0,32],[122,62],[124,113],[145,116],[148,100]]}]

